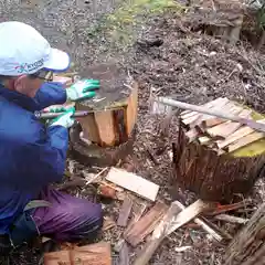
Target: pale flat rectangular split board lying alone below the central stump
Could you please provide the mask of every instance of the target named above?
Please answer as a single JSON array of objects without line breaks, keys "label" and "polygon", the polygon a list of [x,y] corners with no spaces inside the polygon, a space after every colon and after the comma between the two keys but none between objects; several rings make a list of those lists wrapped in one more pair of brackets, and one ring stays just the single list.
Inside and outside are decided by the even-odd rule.
[{"label": "pale flat rectangular split board lying alone below the central stump", "polygon": [[106,180],[132,191],[145,199],[156,201],[159,186],[139,176],[136,176],[135,173],[112,168],[106,177]]}]

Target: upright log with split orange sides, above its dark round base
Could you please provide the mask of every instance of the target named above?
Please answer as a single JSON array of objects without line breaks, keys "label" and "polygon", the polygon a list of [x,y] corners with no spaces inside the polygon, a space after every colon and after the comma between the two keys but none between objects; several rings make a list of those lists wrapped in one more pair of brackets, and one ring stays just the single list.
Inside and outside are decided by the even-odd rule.
[{"label": "upright log with split orange sides, above its dark round base", "polygon": [[76,104],[77,110],[95,110],[78,119],[84,138],[102,147],[126,142],[137,119],[137,83],[113,62],[88,67],[81,76],[100,81],[96,98]]}]

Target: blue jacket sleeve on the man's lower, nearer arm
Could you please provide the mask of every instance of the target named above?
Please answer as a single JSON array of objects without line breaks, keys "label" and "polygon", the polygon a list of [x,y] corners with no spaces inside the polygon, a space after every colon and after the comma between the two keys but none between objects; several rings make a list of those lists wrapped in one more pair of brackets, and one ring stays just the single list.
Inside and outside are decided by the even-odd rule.
[{"label": "blue jacket sleeve on the man's lower, nearer arm", "polygon": [[31,184],[47,186],[61,181],[65,170],[68,148],[68,131],[62,126],[40,125],[38,137],[23,148],[21,168],[29,176]]}]

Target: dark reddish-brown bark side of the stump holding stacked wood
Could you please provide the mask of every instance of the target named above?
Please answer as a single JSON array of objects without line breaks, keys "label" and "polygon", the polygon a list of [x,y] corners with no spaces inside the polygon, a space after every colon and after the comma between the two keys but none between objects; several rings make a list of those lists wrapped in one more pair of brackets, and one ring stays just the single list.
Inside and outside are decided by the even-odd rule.
[{"label": "dark reddish-brown bark side of the stump holding stacked wood", "polygon": [[264,162],[265,156],[220,156],[210,147],[189,142],[182,128],[173,145],[174,180],[203,200],[231,201],[234,193],[247,193]]}]

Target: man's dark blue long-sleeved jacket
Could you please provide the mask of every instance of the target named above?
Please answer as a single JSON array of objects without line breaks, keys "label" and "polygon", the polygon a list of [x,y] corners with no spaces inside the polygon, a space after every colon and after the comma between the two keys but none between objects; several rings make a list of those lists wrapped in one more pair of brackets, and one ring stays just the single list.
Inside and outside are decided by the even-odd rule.
[{"label": "man's dark blue long-sleeved jacket", "polygon": [[33,112],[65,100],[60,83],[43,84],[34,98],[0,84],[0,234],[42,188],[63,177],[67,129],[46,127]]}]

